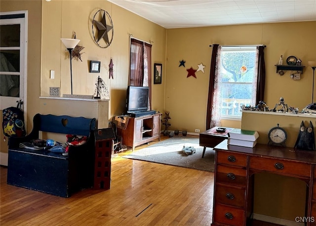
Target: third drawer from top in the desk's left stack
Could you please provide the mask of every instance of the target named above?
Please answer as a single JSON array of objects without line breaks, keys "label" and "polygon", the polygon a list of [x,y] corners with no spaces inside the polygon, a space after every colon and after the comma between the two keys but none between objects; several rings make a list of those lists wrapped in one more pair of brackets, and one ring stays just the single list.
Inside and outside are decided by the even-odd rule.
[{"label": "third drawer from top in the desk's left stack", "polygon": [[244,207],[245,188],[231,187],[217,184],[215,188],[215,202],[231,206]]}]

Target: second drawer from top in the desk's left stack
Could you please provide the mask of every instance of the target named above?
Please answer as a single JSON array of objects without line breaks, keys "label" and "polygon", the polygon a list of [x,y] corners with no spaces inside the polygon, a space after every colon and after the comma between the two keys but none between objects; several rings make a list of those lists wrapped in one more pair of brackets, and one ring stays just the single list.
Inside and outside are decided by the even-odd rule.
[{"label": "second drawer from top in the desk's left stack", "polygon": [[216,183],[246,186],[246,170],[230,166],[216,166]]}]

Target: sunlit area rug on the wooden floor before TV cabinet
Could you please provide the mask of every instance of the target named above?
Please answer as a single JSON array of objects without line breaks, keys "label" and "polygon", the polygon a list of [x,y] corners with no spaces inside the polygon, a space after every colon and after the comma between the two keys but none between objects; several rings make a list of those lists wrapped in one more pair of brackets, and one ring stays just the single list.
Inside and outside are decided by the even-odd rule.
[{"label": "sunlit area rug on the wooden floor before TV cabinet", "polygon": [[[123,158],[214,172],[215,151],[206,148],[204,158],[202,158],[203,147],[198,143],[199,139],[195,137],[174,136],[134,151]],[[183,153],[183,146],[194,147],[196,153],[191,155]]]}]

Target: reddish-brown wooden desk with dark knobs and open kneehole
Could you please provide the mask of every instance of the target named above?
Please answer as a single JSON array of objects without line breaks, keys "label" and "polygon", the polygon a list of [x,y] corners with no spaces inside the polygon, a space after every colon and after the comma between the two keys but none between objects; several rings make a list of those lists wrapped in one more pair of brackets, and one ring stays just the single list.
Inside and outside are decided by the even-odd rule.
[{"label": "reddish-brown wooden desk with dark knobs and open kneehole", "polygon": [[[257,144],[254,148],[214,147],[215,181],[211,226],[251,225],[255,173],[268,172],[298,178],[307,184],[306,217],[316,216],[316,152]],[[280,207],[281,208],[281,207]],[[316,226],[307,222],[306,226]]]}]

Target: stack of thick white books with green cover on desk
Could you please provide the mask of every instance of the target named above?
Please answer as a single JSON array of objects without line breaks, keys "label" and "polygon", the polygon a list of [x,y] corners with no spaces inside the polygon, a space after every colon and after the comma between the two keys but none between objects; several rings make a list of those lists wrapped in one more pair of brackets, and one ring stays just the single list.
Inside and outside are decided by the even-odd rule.
[{"label": "stack of thick white books with green cover on desk", "polygon": [[242,147],[254,147],[259,133],[251,130],[233,129],[228,133],[228,144]]}]

